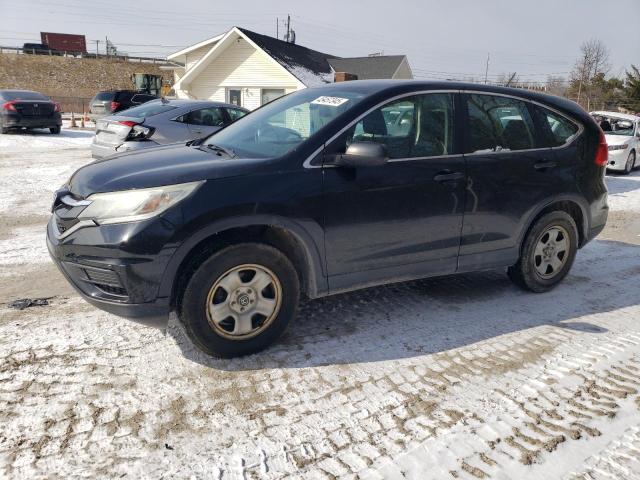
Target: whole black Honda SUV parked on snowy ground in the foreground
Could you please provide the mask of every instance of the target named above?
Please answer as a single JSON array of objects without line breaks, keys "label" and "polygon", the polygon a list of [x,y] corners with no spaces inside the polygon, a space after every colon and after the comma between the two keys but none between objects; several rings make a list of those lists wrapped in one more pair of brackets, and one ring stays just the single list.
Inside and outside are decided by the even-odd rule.
[{"label": "whole black Honda SUV parked on snowy ground in the foreground", "polygon": [[48,247],[99,308],[258,351],[310,298],[504,268],[544,292],[607,219],[607,145],[575,103],[452,82],[298,91],[213,136],[89,164]]}]

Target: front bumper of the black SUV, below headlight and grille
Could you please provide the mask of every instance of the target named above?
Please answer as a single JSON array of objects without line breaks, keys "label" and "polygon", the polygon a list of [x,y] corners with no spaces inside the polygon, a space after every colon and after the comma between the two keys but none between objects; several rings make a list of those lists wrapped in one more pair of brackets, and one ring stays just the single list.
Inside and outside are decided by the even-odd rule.
[{"label": "front bumper of the black SUV, below headlight and grille", "polygon": [[[158,290],[173,249],[160,247],[153,253],[156,246],[149,235],[160,233],[154,231],[158,225],[143,223],[86,227],[60,240],[52,215],[47,248],[58,269],[87,302],[144,325],[166,328],[170,298],[158,297]],[[123,242],[123,238],[133,240]],[[123,243],[132,244],[131,248]],[[133,253],[144,244],[148,253]]]}]

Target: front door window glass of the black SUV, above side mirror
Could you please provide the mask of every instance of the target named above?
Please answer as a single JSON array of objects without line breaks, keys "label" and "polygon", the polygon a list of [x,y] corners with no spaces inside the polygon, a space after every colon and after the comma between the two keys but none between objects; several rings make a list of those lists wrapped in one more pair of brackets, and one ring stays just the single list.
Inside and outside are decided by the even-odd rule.
[{"label": "front door window glass of the black SUV, above side mirror", "polygon": [[388,103],[347,130],[344,152],[355,142],[383,144],[390,159],[449,155],[453,152],[453,96],[415,95]]}]

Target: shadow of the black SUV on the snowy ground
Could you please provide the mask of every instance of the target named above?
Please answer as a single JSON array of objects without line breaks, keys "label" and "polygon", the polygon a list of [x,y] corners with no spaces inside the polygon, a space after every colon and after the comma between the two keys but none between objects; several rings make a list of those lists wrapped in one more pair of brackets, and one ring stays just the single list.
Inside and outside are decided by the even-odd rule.
[{"label": "shadow of the black SUV on the snowy ground", "polygon": [[307,300],[275,345],[231,360],[198,351],[175,317],[168,332],[186,358],[220,370],[380,362],[446,352],[545,325],[600,334],[607,330],[589,315],[640,303],[637,290],[620,289],[632,280],[640,280],[640,247],[594,241],[579,252],[565,281],[545,294],[523,292],[504,272],[490,271]]}]

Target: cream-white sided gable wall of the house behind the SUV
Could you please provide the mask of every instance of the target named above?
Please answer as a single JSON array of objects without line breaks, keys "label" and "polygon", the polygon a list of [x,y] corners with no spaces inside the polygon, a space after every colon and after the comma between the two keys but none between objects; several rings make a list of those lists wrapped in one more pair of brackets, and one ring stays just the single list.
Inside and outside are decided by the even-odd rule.
[{"label": "cream-white sided gable wall of the house behind the SUV", "polygon": [[261,88],[297,90],[295,80],[283,68],[244,39],[234,41],[187,85],[193,98],[226,101],[226,88],[241,88],[245,108],[260,106]]}]

